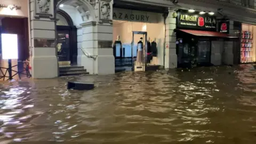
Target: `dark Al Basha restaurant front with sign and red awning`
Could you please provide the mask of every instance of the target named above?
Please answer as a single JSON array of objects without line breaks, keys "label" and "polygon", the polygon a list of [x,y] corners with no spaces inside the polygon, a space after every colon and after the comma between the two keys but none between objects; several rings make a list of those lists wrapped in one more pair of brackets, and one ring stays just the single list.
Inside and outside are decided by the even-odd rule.
[{"label": "dark Al Basha restaurant front with sign and red awning", "polygon": [[221,25],[217,32],[217,24],[213,13],[177,12],[178,67],[221,65],[224,42],[229,41],[229,25]]}]

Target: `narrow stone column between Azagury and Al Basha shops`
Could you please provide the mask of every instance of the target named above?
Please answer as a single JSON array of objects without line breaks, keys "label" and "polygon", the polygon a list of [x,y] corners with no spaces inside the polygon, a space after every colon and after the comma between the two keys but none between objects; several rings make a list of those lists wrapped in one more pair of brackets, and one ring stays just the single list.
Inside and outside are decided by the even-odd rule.
[{"label": "narrow stone column between Azagury and Al Basha shops", "polygon": [[169,14],[165,22],[165,68],[177,68],[176,35],[174,33],[176,18],[173,17],[175,13],[174,9],[169,8]]}]

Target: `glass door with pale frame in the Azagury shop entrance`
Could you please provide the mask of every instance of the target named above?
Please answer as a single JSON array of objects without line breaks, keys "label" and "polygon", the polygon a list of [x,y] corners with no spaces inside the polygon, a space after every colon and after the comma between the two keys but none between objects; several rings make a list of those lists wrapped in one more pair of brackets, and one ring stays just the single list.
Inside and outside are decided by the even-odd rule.
[{"label": "glass door with pale frame in the Azagury shop entrance", "polygon": [[147,32],[132,31],[132,66],[134,71],[147,70]]}]

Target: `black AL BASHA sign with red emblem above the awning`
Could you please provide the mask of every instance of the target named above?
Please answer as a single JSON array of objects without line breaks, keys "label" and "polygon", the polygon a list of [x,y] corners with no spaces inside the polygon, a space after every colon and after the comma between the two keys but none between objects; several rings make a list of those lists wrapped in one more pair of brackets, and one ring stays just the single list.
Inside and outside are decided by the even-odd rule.
[{"label": "black AL BASHA sign with red emblem above the awning", "polygon": [[177,27],[186,29],[198,29],[216,31],[216,17],[214,15],[178,12]]}]

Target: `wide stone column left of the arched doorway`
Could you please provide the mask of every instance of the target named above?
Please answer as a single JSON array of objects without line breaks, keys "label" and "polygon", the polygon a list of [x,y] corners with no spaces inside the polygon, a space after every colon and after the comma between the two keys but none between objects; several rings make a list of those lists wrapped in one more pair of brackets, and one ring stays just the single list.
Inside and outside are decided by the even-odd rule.
[{"label": "wide stone column left of the arched doorway", "polygon": [[31,67],[34,78],[58,77],[54,2],[30,0]]}]

